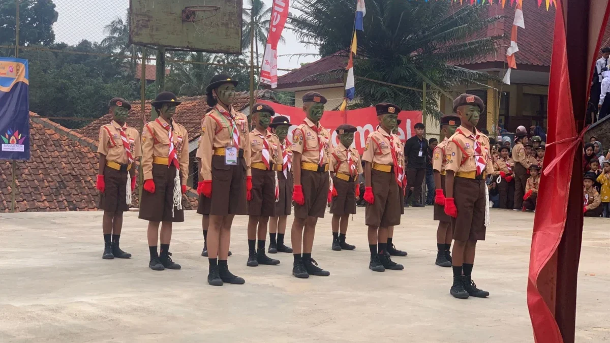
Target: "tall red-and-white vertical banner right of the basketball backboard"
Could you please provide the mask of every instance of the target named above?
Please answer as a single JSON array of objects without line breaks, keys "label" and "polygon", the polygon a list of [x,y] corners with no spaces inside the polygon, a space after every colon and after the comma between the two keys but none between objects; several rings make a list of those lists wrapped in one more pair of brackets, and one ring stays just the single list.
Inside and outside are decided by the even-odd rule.
[{"label": "tall red-and-white vertical banner right of the basketball backboard", "polygon": [[271,85],[271,88],[278,87],[278,42],[288,20],[289,7],[290,0],[273,0],[267,46],[260,68],[260,82]]}]

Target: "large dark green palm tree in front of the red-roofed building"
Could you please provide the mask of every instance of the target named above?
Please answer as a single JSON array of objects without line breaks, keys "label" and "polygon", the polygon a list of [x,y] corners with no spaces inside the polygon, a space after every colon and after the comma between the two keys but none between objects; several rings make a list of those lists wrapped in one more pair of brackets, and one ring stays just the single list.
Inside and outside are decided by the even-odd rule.
[{"label": "large dark green palm tree in front of the red-roofed building", "polygon": [[[419,89],[423,82],[449,89],[456,84],[489,79],[486,73],[450,63],[495,52],[501,37],[477,38],[477,34],[500,17],[487,18],[484,5],[463,6],[452,13],[454,7],[450,4],[450,0],[368,0],[364,32],[357,32],[355,76]],[[347,60],[356,1],[295,0],[295,7],[303,13],[289,18],[289,24],[298,38],[316,46],[321,56],[343,51]],[[440,93],[430,88],[426,111],[438,117],[436,103]],[[356,79],[356,97],[356,107],[389,101],[407,110],[422,109],[422,92],[362,79]]]}]

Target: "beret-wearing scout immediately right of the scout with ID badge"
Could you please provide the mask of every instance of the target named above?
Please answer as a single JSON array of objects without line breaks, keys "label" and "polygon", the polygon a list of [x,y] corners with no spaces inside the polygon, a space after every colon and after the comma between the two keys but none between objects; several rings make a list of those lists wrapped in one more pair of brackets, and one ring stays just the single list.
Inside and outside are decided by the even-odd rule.
[{"label": "beret-wearing scout immediately right of the scout with ID badge", "polygon": [[[254,104],[250,132],[252,152],[252,190],[248,201],[248,262],[249,267],[259,264],[278,265],[278,259],[265,255],[269,217],[275,215],[276,199],[279,199],[277,166],[281,165],[278,136],[267,130],[275,111],[265,104]],[[257,231],[258,226],[258,231]],[[255,250],[258,238],[258,250]]]}]

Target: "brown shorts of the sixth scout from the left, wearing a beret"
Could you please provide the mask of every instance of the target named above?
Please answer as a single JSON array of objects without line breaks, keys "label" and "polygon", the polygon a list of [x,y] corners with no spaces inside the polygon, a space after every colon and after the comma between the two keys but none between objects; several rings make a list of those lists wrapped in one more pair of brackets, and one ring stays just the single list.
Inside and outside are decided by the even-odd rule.
[{"label": "brown shorts of the sixth scout from the left, wearing a beret", "polygon": [[301,186],[305,203],[303,206],[295,204],[295,217],[301,219],[324,218],[329,184],[328,173],[301,169]]}]

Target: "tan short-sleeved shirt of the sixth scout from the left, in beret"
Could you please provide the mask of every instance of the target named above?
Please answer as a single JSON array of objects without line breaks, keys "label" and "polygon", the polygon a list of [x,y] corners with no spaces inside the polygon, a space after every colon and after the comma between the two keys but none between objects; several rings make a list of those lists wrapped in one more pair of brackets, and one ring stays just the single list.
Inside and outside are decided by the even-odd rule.
[{"label": "tan short-sleeved shirt of the sixth scout from the left, in beret", "polygon": [[[292,134],[292,151],[302,155],[301,162],[320,164],[320,146],[318,145],[318,133],[315,131],[315,127],[309,118],[305,118],[303,124],[299,125]],[[320,131],[320,143],[324,150],[322,164],[327,164],[331,134],[320,123],[318,123],[317,128]]]}]

